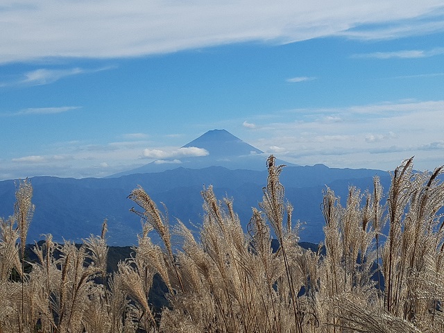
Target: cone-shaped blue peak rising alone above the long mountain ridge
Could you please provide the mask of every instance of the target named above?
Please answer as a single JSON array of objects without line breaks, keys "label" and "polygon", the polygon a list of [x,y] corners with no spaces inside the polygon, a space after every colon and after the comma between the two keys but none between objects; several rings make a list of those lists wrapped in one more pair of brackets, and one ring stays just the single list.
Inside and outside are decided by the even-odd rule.
[{"label": "cone-shaped blue peak rising alone above the long mountain ridge", "polygon": [[[161,172],[183,167],[203,169],[207,167],[225,167],[227,169],[247,169],[261,171],[266,169],[266,155],[263,151],[235,137],[227,130],[209,130],[182,148],[205,149],[205,156],[181,156],[171,160],[155,160],[137,169],[116,173],[109,177],[120,177],[134,173]],[[181,148],[181,149],[182,149]],[[289,164],[284,161],[284,164]],[[282,163],[280,163],[282,164]]]}]

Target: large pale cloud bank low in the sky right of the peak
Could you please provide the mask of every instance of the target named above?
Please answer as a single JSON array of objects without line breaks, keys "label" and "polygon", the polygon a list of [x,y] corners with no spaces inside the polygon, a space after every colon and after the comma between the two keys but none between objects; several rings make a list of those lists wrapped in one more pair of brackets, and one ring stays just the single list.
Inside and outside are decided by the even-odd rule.
[{"label": "large pale cloud bank low in the sky right of the peak", "polygon": [[442,110],[444,101],[414,100],[287,110],[264,123],[252,117],[262,139],[250,144],[301,165],[389,170],[416,155],[427,169],[444,163]]}]

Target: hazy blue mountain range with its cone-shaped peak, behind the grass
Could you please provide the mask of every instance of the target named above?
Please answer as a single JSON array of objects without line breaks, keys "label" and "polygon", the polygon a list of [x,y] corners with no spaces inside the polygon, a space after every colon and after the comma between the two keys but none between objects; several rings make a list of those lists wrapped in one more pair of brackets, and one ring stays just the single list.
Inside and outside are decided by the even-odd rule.
[{"label": "hazy blue mountain range with its cone-shaped peak, behind the grass", "polygon": [[[177,218],[187,225],[199,225],[202,221],[200,191],[204,186],[213,185],[216,196],[234,199],[234,210],[245,227],[251,208],[258,207],[257,203],[262,200],[268,156],[225,130],[207,132],[184,147],[187,146],[205,148],[209,154],[190,157],[176,169],[144,171],[155,168],[151,163],[111,178],[31,178],[36,208],[28,241],[42,239],[41,235],[47,233],[53,234],[56,241],[63,238],[80,241],[89,234],[99,234],[106,218],[110,245],[136,244],[140,221],[129,212],[134,204],[127,196],[137,185],[144,187],[159,207],[161,202],[167,206],[172,224]],[[246,169],[251,163],[259,167]],[[382,178],[382,185],[388,190],[390,176],[385,171],[333,169],[323,164],[286,167],[281,182],[287,199],[294,206],[294,219],[305,222],[301,240],[312,243],[323,240],[320,205],[326,185],[345,198],[350,185],[371,189],[375,175]],[[0,216],[12,214],[14,201],[15,181],[0,182]]]}]

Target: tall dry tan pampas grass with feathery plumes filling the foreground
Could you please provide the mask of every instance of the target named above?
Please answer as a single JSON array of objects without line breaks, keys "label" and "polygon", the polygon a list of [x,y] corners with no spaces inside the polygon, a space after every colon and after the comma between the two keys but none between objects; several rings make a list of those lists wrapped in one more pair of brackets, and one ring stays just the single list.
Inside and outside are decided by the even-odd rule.
[{"label": "tall dry tan pampas grass with feathery plumes filling the foreground", "polygon": [[[373,189],[350,187],[344,206],[326,188],[317,251],[298,245],[282,170],[268,158],[246,232],[232,200],[218,200],[211,186],[201,193],[199,234],[181,221],[171,226],[167,208],[137,187],[129,198],[142,232],[114,273],[106,221],[81,246],[47,235],[28,263],[33,188],[19,182],[14,214],[0,221],[0,333],[444,332],[443,167],[418,173],[405,160],[385,194],[375,177]],[[168,289],[161,313],[150,300],[155,274]]]}]

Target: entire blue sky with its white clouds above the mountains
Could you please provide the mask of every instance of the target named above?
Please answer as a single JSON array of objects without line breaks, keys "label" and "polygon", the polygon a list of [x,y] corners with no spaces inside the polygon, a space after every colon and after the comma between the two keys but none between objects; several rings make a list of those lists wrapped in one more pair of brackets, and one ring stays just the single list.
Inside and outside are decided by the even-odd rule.
[{"label": "entire blue sky with its white clouds above the mountains", "polygon": [[444,164],[443,2],[305,2],[2,1],[0,180],[177,162],[215,128],[300,165]]}]

